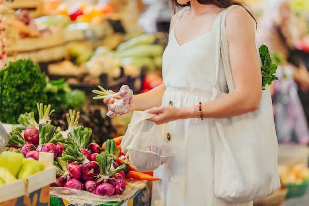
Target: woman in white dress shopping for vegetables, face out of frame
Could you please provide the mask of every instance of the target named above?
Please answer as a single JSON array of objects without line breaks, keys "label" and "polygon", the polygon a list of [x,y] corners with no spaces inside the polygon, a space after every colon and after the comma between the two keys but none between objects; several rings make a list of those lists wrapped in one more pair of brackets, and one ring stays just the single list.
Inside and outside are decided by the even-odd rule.
[{"label": "woman in white dress shopping for vegetables, face out of frame", "polygon": [[[154,171],[152,206],[252,206],[229,204],[214,193],[215,138],[213,118],[254,111],[261,98],[261,69],[255,44],[252,14],[233,0],[171,0],[181,8],[170,23],[169,42],[163,54],[163,84],[133,96],[129,112],[146,110],[149,120],[162,124],[163,137],[178,151]],[[218,15],[226,16],[229,56],[235,90],[211,100],[215,85],[212,28]],[[182,8],[183,7],[183,8]],[[104,99],[108,106],[114,102]],[[201,104],[199,104],[201,102]]]}]

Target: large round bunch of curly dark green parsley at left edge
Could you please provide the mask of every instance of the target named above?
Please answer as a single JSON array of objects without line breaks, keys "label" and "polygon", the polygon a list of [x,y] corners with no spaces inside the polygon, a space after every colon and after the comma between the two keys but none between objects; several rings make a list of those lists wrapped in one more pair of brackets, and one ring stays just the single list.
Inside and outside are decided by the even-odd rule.
[{"label": "large round bunch of curly dark green parsley at left edge", "polygon": [[[37,111],[37,102],[46,102],[46,75],[31,59],[10,62],[0,70],[0,119],[18,124],[20,114]],[[37,113],[35,113],[37,115]]]}]

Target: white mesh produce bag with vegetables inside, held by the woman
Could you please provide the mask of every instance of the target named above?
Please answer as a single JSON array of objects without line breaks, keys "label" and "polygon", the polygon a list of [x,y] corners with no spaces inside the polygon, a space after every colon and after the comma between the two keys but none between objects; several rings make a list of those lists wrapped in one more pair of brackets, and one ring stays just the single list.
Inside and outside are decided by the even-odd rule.
[{"label": "white mesh produce bag with vegetables inside, held by the woman", "polygon": [[134,111],[128,129],[121,142],[121,149],[138,171],[151,171],[169,161],[175,155],[162,139],[158,126],[147,119],[154,114]]}]

